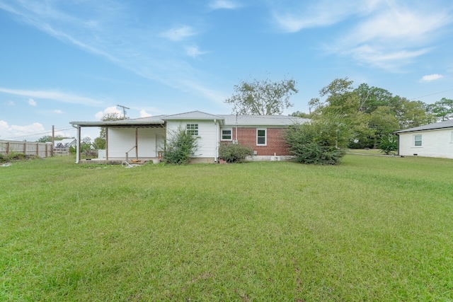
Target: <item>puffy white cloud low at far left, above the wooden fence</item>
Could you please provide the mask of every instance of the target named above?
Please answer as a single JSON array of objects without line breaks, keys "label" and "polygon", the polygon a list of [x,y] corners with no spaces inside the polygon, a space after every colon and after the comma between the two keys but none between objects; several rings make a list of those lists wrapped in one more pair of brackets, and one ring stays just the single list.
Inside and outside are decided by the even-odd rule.
[{"label": "puffy white cloud low at far left, above the wooden fence", "polygon": [[37,140],[45,135],[45,129],[39,122],[19,126],[16,124],[8,125],[4,120],[0,120],[0,139],[28,141]]}]

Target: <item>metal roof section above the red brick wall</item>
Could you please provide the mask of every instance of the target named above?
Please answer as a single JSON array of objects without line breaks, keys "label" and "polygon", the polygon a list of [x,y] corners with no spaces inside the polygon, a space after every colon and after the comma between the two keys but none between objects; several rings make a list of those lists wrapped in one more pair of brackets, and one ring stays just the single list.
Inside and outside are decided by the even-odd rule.
[{"label": "metal roof section above the red brick wall", "polygon": [[[280,126],[303,124],[309,119],[288,115],[219,115],[224,117],[225,126]],[[236,120],[237,117],[237,120]]]}]

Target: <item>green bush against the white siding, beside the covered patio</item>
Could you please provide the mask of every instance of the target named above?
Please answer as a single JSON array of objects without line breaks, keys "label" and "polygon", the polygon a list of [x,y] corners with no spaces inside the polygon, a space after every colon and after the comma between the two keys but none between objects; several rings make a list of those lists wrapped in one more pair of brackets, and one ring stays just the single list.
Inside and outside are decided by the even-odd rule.
[{"label": "green bush against the white siding, beside the covered patio", "polygon": [[164,151],[164,163],[183,165],[195,155],[197,138],[188,134],[185,129],[179,128],[170,134]]}]

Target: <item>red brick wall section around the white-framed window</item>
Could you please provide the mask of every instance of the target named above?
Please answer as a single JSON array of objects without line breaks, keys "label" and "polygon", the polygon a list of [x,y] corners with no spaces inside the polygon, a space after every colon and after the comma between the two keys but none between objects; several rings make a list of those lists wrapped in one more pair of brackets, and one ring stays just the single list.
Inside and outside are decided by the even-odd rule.
[{"label": "red brick wall section around the white-framed window", "polygon": [[[256,128],[238,128],[239,144],[249,146],[257,151],[258,156],[290,155],[283,139],[283,128],[265,128],[267,130],[267,146],[256,146]],[[233,139],[236,140],[236,128],[233,128]],[[222,141],[229,142],[229,141]]]}]

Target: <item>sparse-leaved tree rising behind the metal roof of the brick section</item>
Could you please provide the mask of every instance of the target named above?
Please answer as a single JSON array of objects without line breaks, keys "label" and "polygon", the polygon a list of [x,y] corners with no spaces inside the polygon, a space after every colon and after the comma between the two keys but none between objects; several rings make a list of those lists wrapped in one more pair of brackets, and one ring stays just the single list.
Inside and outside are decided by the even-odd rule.
[{"label": "sparse-leaved tree rising behind the metal roof of the brick section", "polygon": [[272,82],[254,80],[241,81],[234,86],[236,92],[224,103],[233,105],[233,112],[239,115],[281,115],[292,107],[289,98],[299,91],[293,79]]}]

